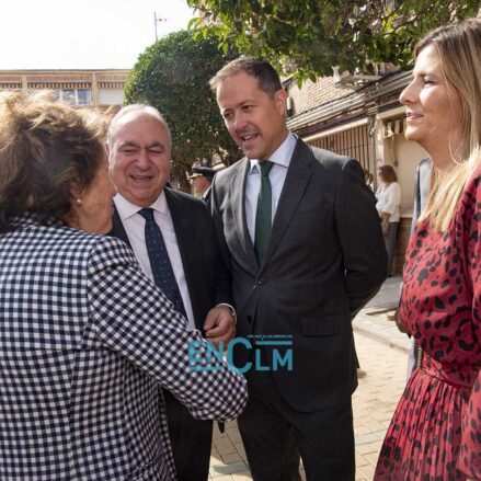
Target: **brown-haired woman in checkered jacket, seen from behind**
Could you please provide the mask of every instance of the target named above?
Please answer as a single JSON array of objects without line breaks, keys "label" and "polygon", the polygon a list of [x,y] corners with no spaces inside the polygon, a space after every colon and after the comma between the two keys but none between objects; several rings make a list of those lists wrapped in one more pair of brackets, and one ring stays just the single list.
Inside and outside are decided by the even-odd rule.
[{"label": "brown-haired woman in checkered jacket, seen from behind", "polygon": [[[176,479],[161,390],[231,419],[245,381],[194,370],[207,343],[112,227],[105,124],[0,94],[0,479]],[[207,366],[211,367],[211,365]]]}]

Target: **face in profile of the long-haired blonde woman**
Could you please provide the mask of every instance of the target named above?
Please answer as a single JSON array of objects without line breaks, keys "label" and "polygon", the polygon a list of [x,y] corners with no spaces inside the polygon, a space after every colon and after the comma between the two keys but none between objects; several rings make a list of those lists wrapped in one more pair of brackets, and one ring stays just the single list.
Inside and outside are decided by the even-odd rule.
[{"label": "face in profile of the long-haired blonde woman", "polygon": [[431,44],[416,58],[412,82],[399,98],[405,105],[405,138],[420,144],[442,165],[451,161],[459,142],[461,101],[443,75],[442,60]]}]

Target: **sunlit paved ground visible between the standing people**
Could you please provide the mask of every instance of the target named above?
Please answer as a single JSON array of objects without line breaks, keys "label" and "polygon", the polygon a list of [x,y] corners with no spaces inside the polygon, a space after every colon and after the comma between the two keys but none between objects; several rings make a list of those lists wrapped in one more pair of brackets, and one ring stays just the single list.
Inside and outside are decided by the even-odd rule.
[{"label": "sunlit paved ground visible between the standing people", "polygon": [[[357,356],[364,376],[353,396],[356,481],[371,481],[382,439],[405,385],[411,341],[388,320],[399,302],[401,277],[389,277],[353,321]],[[301,470],[302,479],[305,479]],[[213,481],[252,480],[236,422],[214,431]],[[333,480],[342,481],[342,480]]]}]

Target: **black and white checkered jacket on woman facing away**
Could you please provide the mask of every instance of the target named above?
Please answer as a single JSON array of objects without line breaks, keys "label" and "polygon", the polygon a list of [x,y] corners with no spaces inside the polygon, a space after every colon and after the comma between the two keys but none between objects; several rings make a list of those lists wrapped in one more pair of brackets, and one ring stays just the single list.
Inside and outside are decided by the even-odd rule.
[{"label": "black and white checkered jacket on woman facing away", "polygon": [[0,480],[175,479],[159,383],[222,420],[242,411],[244,379],[190,367],[201,334],[122,241],[14,224],[0,236]]}]

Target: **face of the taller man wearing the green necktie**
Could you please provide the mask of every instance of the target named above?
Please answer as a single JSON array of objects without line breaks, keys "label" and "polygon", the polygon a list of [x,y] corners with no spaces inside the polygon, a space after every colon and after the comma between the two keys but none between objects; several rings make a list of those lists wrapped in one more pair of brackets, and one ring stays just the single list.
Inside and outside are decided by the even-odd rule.
[{"label": "face of the taller man wearing the green necktie", "polygon": [[229,134],[249,159],[267,160],[286,139],[284,90],[270,95],[257,79],[241,72],[218,85],[217,103]]}]

